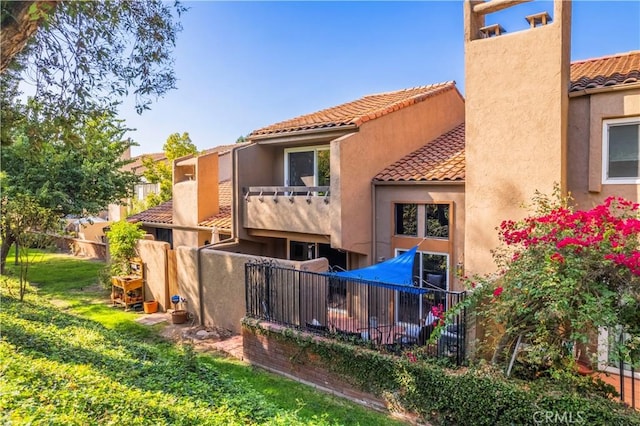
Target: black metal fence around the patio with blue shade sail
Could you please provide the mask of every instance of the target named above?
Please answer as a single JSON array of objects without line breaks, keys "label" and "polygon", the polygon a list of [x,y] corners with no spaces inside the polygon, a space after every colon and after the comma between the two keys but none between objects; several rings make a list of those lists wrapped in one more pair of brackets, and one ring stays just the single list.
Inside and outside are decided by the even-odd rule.
[{"label": "black metal fence around the patio with blue shade sail", "polygon": [[247,263],[245,286],[249,317],[385,352],[423,347],[457,365],[465,360],[464,310],[430,341],[438,314],[461,302],[464,292],[345,279],[270,262]]}]

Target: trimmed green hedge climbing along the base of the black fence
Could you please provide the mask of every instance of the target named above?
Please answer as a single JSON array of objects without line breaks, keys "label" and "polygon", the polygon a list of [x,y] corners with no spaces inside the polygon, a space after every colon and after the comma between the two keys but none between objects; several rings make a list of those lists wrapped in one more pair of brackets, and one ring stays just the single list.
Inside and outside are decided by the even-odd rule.
[{"label": "trimmed green hedge climbing along the base of the black fence", "polygon": [[291,329],[273,331],[255,320],[245,319],[243,326],[299,346],[296,362],[319,356],[345,381],[433,425],[640,425],[640,413],[610,398],[612,389],[589,377],[522,381],[506,378],[484,363],[455,370]]}]

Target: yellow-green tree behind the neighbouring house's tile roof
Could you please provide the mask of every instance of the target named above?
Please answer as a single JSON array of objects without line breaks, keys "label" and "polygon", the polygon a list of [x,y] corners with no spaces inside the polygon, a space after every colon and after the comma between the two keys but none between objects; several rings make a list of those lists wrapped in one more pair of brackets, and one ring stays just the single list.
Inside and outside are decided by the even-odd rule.
[{"label": "yellow-green tree behind the neighbouring house's tile roof", "polygon": [[189,133],[182,135],[173,133],[168,138],[162,149],[167,157],[167,162],[153,161],[151,157],[144,157],[142,164],[145,167],[144,177],[149,183],[160,185],[158,194],[149,194],[144,202],[144,208],[157,206],[169,201],[173,196],[173,160],[190,154],[197,154],[198,148],[191,141]]}]

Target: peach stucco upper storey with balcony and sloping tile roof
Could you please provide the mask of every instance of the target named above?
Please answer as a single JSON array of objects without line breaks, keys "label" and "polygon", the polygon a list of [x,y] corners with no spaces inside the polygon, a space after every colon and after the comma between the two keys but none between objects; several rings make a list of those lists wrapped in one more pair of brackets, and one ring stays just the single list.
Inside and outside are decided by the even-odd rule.
[{"label": "peach stucco upper storey with balcony and sloping tile roof", "polygon": [[262,255],[375,259],[372,179],[464,118],[455,83],[365,96],[262,129],[236,151],[237,237]]}]

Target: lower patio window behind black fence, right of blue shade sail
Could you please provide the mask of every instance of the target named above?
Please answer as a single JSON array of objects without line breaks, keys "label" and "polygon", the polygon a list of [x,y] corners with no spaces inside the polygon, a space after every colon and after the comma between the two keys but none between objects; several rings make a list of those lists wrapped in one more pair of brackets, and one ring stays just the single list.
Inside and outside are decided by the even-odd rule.
[{"label": "lower patio window behind black fence, right of blue shade sail", "polygon": [[[406,250],[397,250],[396,255]],[[448,289],[449,255],[417,252],[413,262],[413,285],[420,288]],[[446,309],[444,292],[410,294],[398,292],[396,298],[396,321],[420,324],[433,306],[442,305]]]}]

